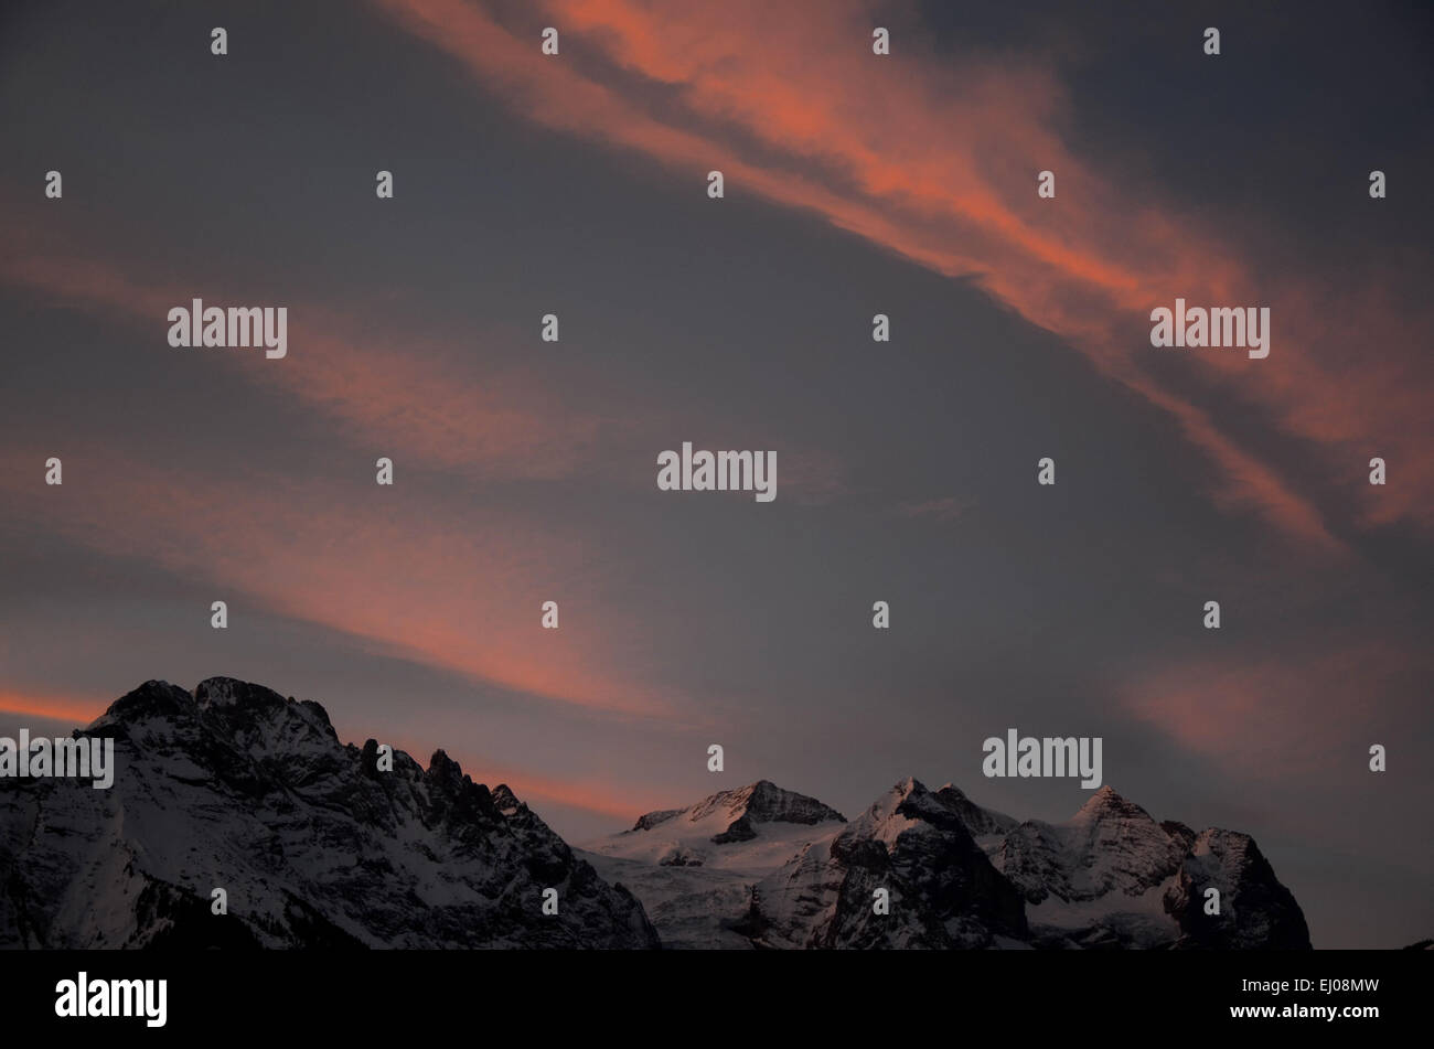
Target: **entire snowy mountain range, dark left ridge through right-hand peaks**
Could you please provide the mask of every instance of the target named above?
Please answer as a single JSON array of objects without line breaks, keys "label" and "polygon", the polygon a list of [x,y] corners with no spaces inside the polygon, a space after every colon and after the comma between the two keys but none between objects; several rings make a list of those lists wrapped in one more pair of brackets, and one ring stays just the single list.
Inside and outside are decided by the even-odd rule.
[{"label": "entire snowy mountain range, dark left ridge through right-hand peaks", "polygon": [[0,947],[1309,947],[1249,835],[1110,787],[1051,824],[908,778],[847,821],[761,780],[572,848],[443,751],[389,768],[231,678],[76,735],[115,738],[110,790],[0,780]]}]

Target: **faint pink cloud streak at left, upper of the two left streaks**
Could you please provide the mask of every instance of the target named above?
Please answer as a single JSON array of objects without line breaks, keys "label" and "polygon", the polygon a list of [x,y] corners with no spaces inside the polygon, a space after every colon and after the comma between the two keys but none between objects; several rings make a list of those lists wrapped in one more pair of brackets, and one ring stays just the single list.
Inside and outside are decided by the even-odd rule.
[{"label": "faint pink cloud streak at left, upper of the two left streaks", "polygon": [[[14,215],[13,236],[0,242],[0,281],[77,308],[119,312],[143,322],[156,340],[168,332],[168,311],[195,297],[195,288],[105,259],[93,245],[67,236],[60,222],[37,226],[13,199],[4,206],[13,198],[0,185],[0,209]],[[565,480],[611,471],[614,447],[645,441],[648,450],[641,460],[625,460],[634,469],[618,482],[641,476],[648,483],[657,450],[693,421],[681,406],[665,413],[644,406],[638,413],[612,388],[594,397],[581,371],[578,381],[555,385],[506,345],[475,354],[442,334],[404,328],[402,337],[386,337],[351,307],[290,301],[288,310],[290,353],[282,361],[219,355],[215,367],[323,413],[347,440],[381,451],[400,469],[422,464],[476,480]],[[783,450],[789,496],[829,500],[846,492],[840,474],[840,464],[819,450]]]}]

